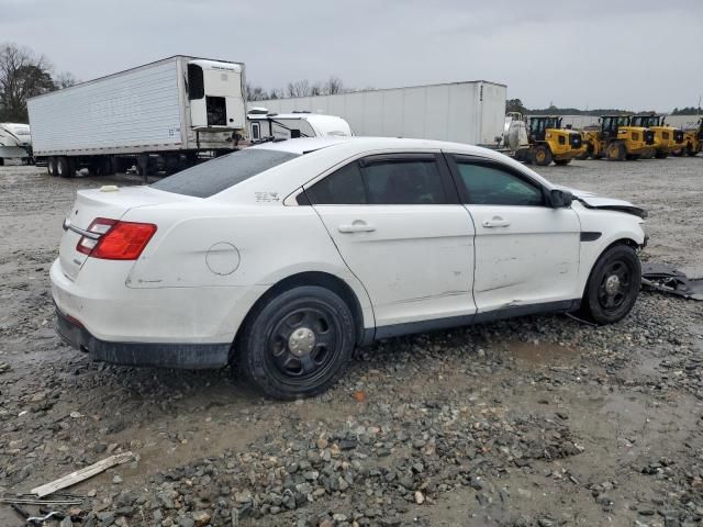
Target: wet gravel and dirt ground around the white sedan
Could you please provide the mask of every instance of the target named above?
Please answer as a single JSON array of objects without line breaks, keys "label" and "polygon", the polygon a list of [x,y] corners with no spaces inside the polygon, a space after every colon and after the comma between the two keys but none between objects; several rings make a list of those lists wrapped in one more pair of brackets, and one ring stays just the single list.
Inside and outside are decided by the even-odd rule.
[{"label": "wet gravel and dirt ground around the white sedan", "polygon": [[[703,159],[576,161],[555,182],[650,211],[643,259],[703,276]],[[703,520],[703,303],[643,292],[609,327],[526,317],[379,343],[333,390],[267,401],[227,371],[110,367],[53,329],[77,189],[0,168],[0,492],[112,453],[77,526],[689,526]],[[26,507],[36,514],[36,507]],[[24,525],[0,504],[0,525]]]}]

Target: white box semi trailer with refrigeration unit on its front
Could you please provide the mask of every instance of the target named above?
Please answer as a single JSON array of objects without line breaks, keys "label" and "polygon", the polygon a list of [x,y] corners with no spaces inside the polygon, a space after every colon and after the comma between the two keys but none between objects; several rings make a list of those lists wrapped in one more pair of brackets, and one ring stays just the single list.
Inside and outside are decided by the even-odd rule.
[{"label": "white box semi trailer with refrigeration unit on its front", "polygon": [[244,64],[174,56],[30,99],[34,157],[51,175],[178,171],[237,148]]}]

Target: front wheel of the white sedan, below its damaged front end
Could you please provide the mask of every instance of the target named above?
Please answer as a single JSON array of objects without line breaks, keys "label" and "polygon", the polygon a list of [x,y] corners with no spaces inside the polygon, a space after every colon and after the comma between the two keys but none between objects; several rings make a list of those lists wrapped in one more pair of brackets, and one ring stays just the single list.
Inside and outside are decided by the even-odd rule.
[{"label": "front wheel of the white sedan, below its damaged front end", "polygon": [[610,247],[591,270],[581,300],[581,315],[596,324],[622,321],[637,301],[640,280],[641,267],[635,249],[628,245]]}]

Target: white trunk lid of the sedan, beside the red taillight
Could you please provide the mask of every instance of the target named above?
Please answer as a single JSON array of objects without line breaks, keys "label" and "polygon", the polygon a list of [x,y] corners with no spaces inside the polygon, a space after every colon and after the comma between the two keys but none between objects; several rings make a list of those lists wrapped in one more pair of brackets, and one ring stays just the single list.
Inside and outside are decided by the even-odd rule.
[{"label": "white trunk lid of the sedan, beside the red taillight", "polygon": [[157,205],[174,201],[192,201],[192,198],[155,190],[149,187],[102,187],[100,189],[79,190],[76,202],[64,221],[64,236],[58,249],[58,258],[64,273],[76,279],[88,255],[76,246],[81,231],[88,231],[97,217],[121,220],[131,209]]}]

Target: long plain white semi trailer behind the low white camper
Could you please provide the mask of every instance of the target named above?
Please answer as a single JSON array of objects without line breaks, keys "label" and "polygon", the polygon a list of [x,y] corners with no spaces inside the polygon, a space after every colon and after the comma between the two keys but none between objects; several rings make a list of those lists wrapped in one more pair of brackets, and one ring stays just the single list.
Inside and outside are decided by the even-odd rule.
[{"label": "long plain white semi trailer behind the low white camper", "polygon": [[338,115],[354,135],[416,137],[498,147],[506,87],[477,80],[252,102],[274,113]]}]

